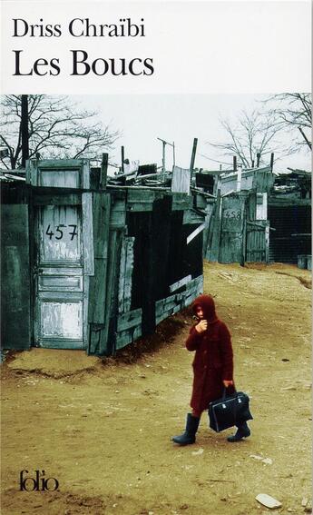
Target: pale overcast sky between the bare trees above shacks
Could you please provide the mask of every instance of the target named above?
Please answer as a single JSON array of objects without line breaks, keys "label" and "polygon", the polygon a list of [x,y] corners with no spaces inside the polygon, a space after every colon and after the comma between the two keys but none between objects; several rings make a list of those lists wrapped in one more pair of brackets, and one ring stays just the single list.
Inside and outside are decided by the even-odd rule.
[{"label": "pale overcast sky between the bare trees above shacks", "polygon": [[[109,94],[74,95],[73,101],[81,108],[95,110],[103,124],[109,124],[121,136],[110,151],[111,163],[121,164],[121,146],[131,162],[157,163],[161,166],[162,144],[157,138],[175,144],[175,162],[189,168],[193,138],[198,138],[195,167],[207,170],[231,168],[232,158],[210,143],[226,142],[228,136],[220,124],[221,119],[236,123],[240,112],[262,110],[262,101],[269,95],[260,94]],[[296,130],[299,139],[301,134]],[[284,146],[289,146],[290,134],[280,136]],[[166,145],[166,168],[173,163],[172,147]],[[278,153],[276,154],[278,157]],[[310,154],[301,153],[277,159],[274,172],[287,168],[311,169]],[[112,174],[111,169],[110,174]]]}]

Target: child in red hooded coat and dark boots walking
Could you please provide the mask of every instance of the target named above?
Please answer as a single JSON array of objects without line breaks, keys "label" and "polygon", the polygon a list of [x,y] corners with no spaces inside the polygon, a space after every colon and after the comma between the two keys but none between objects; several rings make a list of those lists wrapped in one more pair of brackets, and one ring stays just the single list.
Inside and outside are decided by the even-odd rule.
[{"label": "child in red hooded coat and dark boots walking", "polygon": [[[219,399],[224,388],[233,393],[233,354],[230,332],[215,312],[215,304],[209,295],[200,295],[192,304],[199,322],[191,327],[186,341],[188,351],[195,351],[193,385],[191,395],[192,412],[187,415],[186,430],[172,441],[188,445],[196,441],[202,411],[208,410],[210,401]],[[250,434],[247,422],[240,425],[228,441],[240,441]]]}]

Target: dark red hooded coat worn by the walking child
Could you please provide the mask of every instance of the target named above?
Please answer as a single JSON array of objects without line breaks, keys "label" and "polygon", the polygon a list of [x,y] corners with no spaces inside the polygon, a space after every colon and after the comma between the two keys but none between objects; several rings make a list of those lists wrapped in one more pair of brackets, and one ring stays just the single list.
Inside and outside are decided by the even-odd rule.
[{"label": "dark red hooded coat worn by the walking child", "polygon": [[[233,354],[230,332],[226,324],[216,316],[212,297],[200,295],[192,304],[194,312],[197,306],[202,308],[204,320],[208,321],[208,329],[199,333],[195,325],[191,327],[186,347],[188,351],[196,352],[192,362],[194,376],[191,408],[194,411],[204,411],[208,409],[210,401],[222,396],[222,381],[233,380]],[[228,392],[233,391],[234,388],[230,386]]]}]

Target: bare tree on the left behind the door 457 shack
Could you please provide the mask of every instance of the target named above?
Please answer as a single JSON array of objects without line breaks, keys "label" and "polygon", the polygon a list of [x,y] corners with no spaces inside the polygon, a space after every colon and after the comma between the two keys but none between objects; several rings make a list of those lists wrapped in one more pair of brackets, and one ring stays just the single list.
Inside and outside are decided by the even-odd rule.
[{"label": "bare tree on the left behind the door 457 shack", "polygon": [[[18,168],[22,159],[20,95],[5,95],[1,101],[1,145],[8,156],[5,168]],[[96,121],[96,112],[79,109],[67,96],[30,94],[28,96],[29,157],[96,159],[103,149],[111,149],[120,136],[109,125]]]}]

